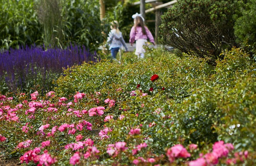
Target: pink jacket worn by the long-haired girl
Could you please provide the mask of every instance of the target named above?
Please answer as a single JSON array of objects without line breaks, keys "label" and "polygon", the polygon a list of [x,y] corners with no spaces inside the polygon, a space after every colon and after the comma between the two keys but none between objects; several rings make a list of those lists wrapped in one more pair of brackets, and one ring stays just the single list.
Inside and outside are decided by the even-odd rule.
[{"label": "pink jacket worn by the long-haired girl", "polygon": [[131,29],[131,32],[130,32],[129,42],[131,44],[133,44],[134,41],[138,40],[138,39],[149,39],[152,44],[155,44],[154,38],[153,38],[150,30],[148,30],[147,27],[145,27],[145,29],[146,29],[146,35],[143,35],[141,27],[136,27],[136,31],[135,31],[135,27],[133,26]]}]

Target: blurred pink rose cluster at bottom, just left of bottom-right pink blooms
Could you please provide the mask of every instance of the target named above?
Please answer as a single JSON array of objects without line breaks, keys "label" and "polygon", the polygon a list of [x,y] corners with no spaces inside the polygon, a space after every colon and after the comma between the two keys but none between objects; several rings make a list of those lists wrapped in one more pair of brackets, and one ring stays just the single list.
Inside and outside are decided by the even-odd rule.
[{"label": "blurred pink rose cluster at bottom, just left of bottom-right pink blooms", "polygon": [[191,155],[188,153],[187,149],[183,147],[183,145],[177,144],[167,149],[166,156],[172,163],[175,158],[189,158]]}]

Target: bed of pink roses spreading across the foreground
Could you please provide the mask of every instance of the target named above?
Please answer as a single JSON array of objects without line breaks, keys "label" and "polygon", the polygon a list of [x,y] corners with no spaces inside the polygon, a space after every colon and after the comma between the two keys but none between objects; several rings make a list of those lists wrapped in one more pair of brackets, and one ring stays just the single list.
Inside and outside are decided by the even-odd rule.
[{"label": "bed of pink roses spreading across the foreground", "polygon": [[[157,79],[155,76],[151,83],[157,83]],[[20,163],[38,166],[85,165],[105,159],[127,165],[214,166],[236,165],[250,158],[248,151],[233,152],[234,146],[224,141],[215,142],[212,149],[200,149],[196,144],[168,146],[167,141],[166,146],[157,149],[162,153],[156,153],[154,144],[159,137],[154,131],[163,133],[167,127],[174,127],[177,122],[172,114],[167,114],[164,107],[148,106],[147,93],[138,90],[116,93],[127,93],[129,102],[137,104],[136,109],[129,102],[119,107],[120,101],[106,99],[100,92],[58,97],[50,91],[45,100],[34,92],[30,99],[15,104],[11,98],[0,95],[0,122],[6,124],[3,128],[14,126],[19,133],[11,151],[22,154]],[[1,146],[14,139],[6,133],[1,132]],[[24,135],[30,139],[24,139]],[[164,135],[160,138],[164,139]]]}]

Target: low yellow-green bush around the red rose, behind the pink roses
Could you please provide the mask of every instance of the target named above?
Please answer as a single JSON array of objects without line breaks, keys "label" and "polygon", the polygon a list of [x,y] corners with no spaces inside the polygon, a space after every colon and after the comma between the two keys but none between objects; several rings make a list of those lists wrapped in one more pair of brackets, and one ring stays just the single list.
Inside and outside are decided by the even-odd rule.
[{"label": "low yellow-green bush around the red rose, behind the pink roses", "polygon": [[[129,94],[140,84],[144,93],[153,95],[164,87],[168,97],[179,102],[191,93],[196,86],[195,83],[201,84],[200,79],[211,74],[213,69],[201,59],[175,59],[174,56],[172,59],[169,58],[169,56],[161,59],[148,58],[143,61],[129,60],[124,57],[122,58],[124,63],[121,64],[105,60],[95,64],[85,63],[81,66],[74,66],[66,69],[65,76],[61,76],[56,81],[58,87],[55,91],[63,96],[77,91],[84,93],[101,91],[104,97],[112,93],[112,97],[116,94],[118,95],[116,98],[119,98],[119,92],[116,89],[121,88]],[[150,81],[150,77],[154,74],[161,78],[157,86]],[[149,91],[151,87],[154,89],[152,92]]]}]

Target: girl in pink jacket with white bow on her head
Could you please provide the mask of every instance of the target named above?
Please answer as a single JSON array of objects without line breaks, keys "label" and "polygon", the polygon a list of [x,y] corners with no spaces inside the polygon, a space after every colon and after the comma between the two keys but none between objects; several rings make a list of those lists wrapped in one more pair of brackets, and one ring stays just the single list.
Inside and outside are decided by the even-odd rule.
[{"label": "girl in pink jacket with white bow on her head", "polygon": [[147,39],[155,45],[155,41],[150,30],[148,30],[148,27],[144,25],[143,18],[140,15],[137,15],[137,17],[134,18],[134,26],[130,32],[129,42],[132,46],[134,41],[136,41],[135,55],[137,55],[138,58],[144,58],[145,49],[143,46],[146,44]]}]

